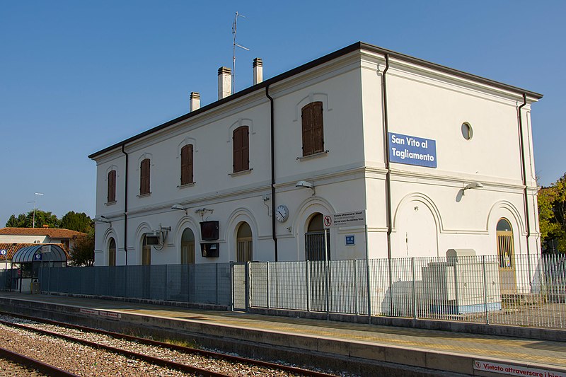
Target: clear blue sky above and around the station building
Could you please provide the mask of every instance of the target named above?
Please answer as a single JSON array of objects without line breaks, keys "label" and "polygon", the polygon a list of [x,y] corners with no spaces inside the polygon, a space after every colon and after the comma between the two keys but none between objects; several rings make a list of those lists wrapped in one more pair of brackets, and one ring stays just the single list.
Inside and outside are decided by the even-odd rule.
[{"label": "clear blue sky above and around the station building", "polygon": [[[95,216],[87,155],[183,115],[189,93],[236,90],[362,40],[545,96],[533,105],[542,185],[566,171],[566,1],[0,0],[0,226],[37,207]],[[503,142],[503,141],[502,141]]]}]

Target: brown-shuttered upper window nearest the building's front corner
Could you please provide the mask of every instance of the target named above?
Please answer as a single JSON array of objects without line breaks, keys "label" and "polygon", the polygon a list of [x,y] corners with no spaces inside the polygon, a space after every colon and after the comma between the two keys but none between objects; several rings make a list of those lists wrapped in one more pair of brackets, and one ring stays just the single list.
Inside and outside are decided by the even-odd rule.
[{"label": "brown-shuttered upper window nearest the building's front corner", "polygon": [[311,102],[301,110],[303,156],[324,151],[323,103]]}]

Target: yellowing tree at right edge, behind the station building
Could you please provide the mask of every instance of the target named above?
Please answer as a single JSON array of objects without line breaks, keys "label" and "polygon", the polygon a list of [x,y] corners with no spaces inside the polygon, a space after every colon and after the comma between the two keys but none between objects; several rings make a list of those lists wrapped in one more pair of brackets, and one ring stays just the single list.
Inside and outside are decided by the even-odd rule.
[{"label": "yellowing tree at right edge, behind the station building", "polygon": [[543,250],[566,253],[566,173],[538,191],[538,219]]}]

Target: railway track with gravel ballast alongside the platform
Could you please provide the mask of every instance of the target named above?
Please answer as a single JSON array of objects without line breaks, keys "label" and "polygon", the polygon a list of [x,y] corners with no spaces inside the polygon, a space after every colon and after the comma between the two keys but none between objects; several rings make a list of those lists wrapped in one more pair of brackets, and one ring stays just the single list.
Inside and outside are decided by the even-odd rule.
[{"label": "railway track with gravel ballast alongside the platform", "polygon": [[[60,323],[42,318],[2,313],[1,325],[32,331],[40,335],[57,337],[67,342],[83,344],[94,349],[120,354],[128,359],[144,361],[152,366],[190,373],[197,376],[238,376],[245,369],[253,369],[254,376],[333,376],[318,371],[308,371],[282,364],[275,364],[240,356],[210,352],[177,344],[158,342],[142,337],[93,329],[69,323]],[[8,357],[6,357],[8,358]],[[196,359],[192,360],[191,359]],[[207,365],[195,366],[199,364]],[[220,364],[221,366],[217,365]],[[228,366],[226,366],[228,364]],[[226,370],[228,369],[228,370]],[[41,370],[41,369],[39,369]],[[47,373],[48,375],[54,375]],[[59,373],[59,372],[57,372]],[[74,374],[58,374],[57,376],[76,376]]]}]

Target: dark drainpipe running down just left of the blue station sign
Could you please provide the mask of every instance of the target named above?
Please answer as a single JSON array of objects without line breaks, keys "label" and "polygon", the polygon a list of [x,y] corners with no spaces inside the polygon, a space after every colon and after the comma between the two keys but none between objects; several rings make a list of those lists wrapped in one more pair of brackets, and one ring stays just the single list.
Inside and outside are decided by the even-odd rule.
[{"label": "dark drainpipe running down just left of the blue station sign", "polygon": [[[389,54],[385,54],[385,69],[381,75],[383,81],[382,95],[383,95],[383,140],[385,141],[385,168],[387,170],[385,176],[386,182],[386,211],[387,211],[387,261],[389,269],[389,310],[393,315],[393,272],[391,271],[391,166],[389,163],[389,120],[387,116],[387,80],[386,73],[389,69]],[[369,261],[368,261],[369,263]]]}]

